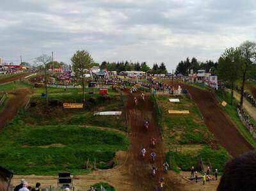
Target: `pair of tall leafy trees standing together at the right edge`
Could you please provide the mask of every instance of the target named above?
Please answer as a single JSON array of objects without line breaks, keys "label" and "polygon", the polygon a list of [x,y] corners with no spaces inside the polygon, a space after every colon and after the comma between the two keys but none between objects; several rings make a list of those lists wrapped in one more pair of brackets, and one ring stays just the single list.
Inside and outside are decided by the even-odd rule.
[{"label": "pair of tall leafy trees standing together at the right edge", "polygon": [[239,47],[230,47],[221,55],[218,65],[219,79],[231,89],[231,102],[234,99],[234,88],[241,82],[240,107],[243,107],[244,84],[248,79],[255,79],[256,43],[246,41]]}]

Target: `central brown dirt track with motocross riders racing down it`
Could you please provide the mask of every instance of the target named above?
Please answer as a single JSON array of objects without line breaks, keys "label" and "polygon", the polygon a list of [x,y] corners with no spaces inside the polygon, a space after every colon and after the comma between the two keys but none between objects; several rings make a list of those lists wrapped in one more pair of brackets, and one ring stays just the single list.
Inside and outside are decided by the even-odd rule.
[{"label": "central brown dirt track with motocross riders racing down it", "polygon": [[[134,96],[138,98],[138,105],[134,104]],[[163,143],[161,134],[157,126],[156,112],[154,103],[150,98],[146,97],[146,102],[140,98],[139,94],[129,96],[127,100],[128,123],[131,127],[131,148],[126,162],[128,173],[132,176],[133,183],[139,190],[159,190],[158,182],[164,177],[163,190],[179,190],[175,176],[170,177],[163,172],[163,164],[165,160]],[[149,122],[148,131],[145,130],[144,123]],[[150,139],[156,138],[156,146],[150,146]],[[142,158],[140,151],[142,148],[147,150],[146,157]],[[157,154],[155,162],[150,161],[150,153]],[[152,177],[152,165],[157,167],[155,177]]]}]

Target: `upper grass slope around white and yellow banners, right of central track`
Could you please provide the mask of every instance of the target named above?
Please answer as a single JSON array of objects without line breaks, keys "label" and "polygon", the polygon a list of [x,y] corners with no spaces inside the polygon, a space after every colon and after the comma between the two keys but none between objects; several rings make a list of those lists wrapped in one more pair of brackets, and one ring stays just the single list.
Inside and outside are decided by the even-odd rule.
[{"label": "upper grass slope around white and yellow banners, right of central track", "polygon": [[[161,115],[159,123],[164,126],[168,134],[170,144],[204,144],[212,141],[212,134],[209,132],[202,120],[202,114],[195,103],[192,103],[188,96],[180,96],[180,102],[168,102],[168,97],[157,96]],[[169,109],[189,110],[190,114],[168,114]]]}]

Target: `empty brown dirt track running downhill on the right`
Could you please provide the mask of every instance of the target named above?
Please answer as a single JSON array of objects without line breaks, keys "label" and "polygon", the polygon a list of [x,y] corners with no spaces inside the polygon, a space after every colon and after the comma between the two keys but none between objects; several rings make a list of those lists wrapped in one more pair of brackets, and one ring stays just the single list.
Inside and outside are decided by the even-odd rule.
[{"label": "empty brown dirt track running downhill on the right", "polygon": [[182,89],[188,89],[193,100],[202,112],[205,124],[214,137],[234,157],[253,149],[253,146],[239,133],[234,123],[221,109],[214,95],[203,89],[187,84],[180,84]]}]

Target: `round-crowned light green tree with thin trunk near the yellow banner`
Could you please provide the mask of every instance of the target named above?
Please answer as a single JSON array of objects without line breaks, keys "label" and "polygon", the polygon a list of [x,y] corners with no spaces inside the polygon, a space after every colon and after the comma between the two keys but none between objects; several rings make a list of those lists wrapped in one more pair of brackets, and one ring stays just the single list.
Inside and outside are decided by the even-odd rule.
[{"label": "round-crowned light green tree with thin trunk near the yellow banner", "polygon": [[85,102],[84,95],[84,74],[86,69],[89,70],[93,66],[93,59],[89,52],[86,50],[77,50],[76,53],[71,58],[72,66],[74,72],[76,73],[76,78],[81,80],[83,86],[83,102]]}]

